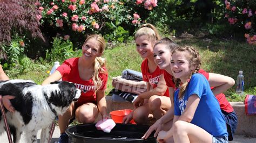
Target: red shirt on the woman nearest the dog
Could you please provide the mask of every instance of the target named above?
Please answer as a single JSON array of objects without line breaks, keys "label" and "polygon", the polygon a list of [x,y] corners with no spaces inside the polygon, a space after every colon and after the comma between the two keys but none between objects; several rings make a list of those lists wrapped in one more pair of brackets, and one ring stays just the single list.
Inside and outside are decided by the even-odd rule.
[{"label": "red shirt on the woman nearest the dog", "polygon": [[[92,78],[88,81],[82,80],[78,71],[79,58],[71,58],[65,60],[56,70],[62,75],[63,81],[73,82],[77,89],[82,90],[81,96],[76,104],[84,104],[86,102],[96,102],[96,87],[92,81]],[[105,66],[103,69],[106,71]],[[99,73],[99,78],[102,80],[102,86],[100,90],[105,90],[107,87],[107,71],[105,73]]]}]

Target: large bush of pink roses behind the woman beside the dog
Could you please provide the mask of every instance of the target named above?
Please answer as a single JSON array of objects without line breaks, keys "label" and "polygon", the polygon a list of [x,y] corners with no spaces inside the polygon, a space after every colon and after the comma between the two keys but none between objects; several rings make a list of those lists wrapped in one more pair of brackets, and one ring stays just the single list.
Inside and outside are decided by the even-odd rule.
[{"label": "large bush of pink roses behind the woman beside the dog", "polygon": [[37,18],[43,27],[50,26],[62,35],[74,32],[105,35],[113,32],[113,27],[108,26],[111,24],[114,27],[140,26],[143,20],[140,15],[147,15],[157,6],[157,0],[44,0],[36,5],[41,10]]}]

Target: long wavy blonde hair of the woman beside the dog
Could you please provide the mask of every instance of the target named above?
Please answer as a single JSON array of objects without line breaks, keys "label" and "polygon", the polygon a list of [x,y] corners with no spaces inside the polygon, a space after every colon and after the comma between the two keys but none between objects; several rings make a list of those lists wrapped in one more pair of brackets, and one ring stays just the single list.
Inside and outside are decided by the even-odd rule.
[{"label": "long wavy blonde hair of the woman beside the dog", "polygon": [[[90,39],[95,39],[99,45],[99,52],[103,53],[104,49],[106,47],[105,39],[98,34],[89,35],[86,40],[84,41],[84,45],[86,42]],[[83,45],[83,46],[84,46]],[[96,87],[96,90],[98,90],[102,86],[102,80],[99,78],[99,73],[106,73],[106,71],[103,69],[103,67],[106,65],[106,60],[102,57],[96,57],[95,61],[93,62],[93,74],[92,74],[92,81]]]}]

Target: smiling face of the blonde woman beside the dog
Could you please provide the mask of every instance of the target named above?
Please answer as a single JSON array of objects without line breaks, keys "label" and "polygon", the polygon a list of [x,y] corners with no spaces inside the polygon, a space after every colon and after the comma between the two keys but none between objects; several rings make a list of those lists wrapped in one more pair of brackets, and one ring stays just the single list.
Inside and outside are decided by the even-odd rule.
[{"label": "smiling face of the blonde woman beside the dog", "polygon": [[86,60],[95,60],[97,56],[102,55],[99,43],[95,38],[91,38],[85,42],[82,47],[83,58]]}]

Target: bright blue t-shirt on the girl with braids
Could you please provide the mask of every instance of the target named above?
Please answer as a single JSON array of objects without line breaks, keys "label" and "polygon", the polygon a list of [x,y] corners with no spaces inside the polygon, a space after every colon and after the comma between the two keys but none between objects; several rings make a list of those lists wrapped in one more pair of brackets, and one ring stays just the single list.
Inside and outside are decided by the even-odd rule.
[{"label": "bright blue t-shirt on the girl with braids", "polygon": [[193,74],[186,87],[184,96],[178,99],[178,94],[179,89],[174,94],[174,115],[180,116],[186,108],[188,97],[196,94],[200,101],[191,123],[203,128],[214,137],[228,135],[225,119],[220,111],[220,105],[203,75]]}]

